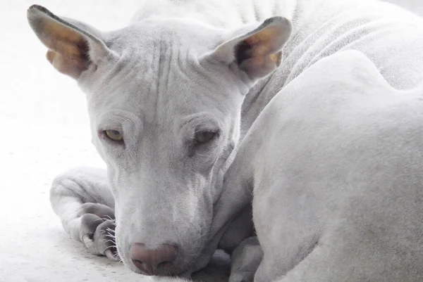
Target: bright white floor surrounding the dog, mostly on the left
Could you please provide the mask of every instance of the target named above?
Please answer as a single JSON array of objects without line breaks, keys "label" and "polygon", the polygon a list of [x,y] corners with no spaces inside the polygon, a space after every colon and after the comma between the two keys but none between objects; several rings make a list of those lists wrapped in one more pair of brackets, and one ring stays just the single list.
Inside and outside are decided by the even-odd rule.
[{"label": "bright white floor surrounding the dog, mostly on the left", "polygon": [[[26,9],[34,2],[0,2],[0,281],[149,281],[122,264],[89,255],[66,236],[51,211],[54,175],[103,164],[90,143],[85,96],[49,65],[46,49],[27,25]],[[128,22],[136,2],[36,3],[111,30]],[[414,7],[423,11],[422,4]]]}]

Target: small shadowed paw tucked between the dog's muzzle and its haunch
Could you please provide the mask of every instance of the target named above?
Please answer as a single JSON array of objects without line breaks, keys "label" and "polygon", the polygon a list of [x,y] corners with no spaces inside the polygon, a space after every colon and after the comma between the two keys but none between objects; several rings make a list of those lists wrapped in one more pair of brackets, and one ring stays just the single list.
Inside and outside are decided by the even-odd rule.
[{"label": "small shadowed paw tucked between the dog's muzzle and its haunch", "polygon": [[252,282],[262,262],[263,251],[257,237],[245,239],[232,253],[229,282]]}]

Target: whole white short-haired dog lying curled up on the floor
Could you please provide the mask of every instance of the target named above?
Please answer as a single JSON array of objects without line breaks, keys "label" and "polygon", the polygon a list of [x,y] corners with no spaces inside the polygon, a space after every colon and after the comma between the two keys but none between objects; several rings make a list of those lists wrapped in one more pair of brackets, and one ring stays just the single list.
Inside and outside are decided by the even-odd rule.
[{"label": "whole white short-haired dog lying curled up on the floor", "polygon": [[[405,128],[397,123],[384,131],[384,124],[374,120],[379,112],[358,107],[360,101],[353,97],[362,96],[353,96],[355,91],[375,89],[379,100],[362,101],[370,108],[379,103],[387,107],[391,100],[382,101],[380,93],[394,92],[384,85],[372,88],[367,75],[354,72],[366,70],[380,82],[372,68],[368,71],[369,62],[346,53],[359,62],[345,70],[345,80],[352,80],[345,85],[354,86],[345,94],[354,100],[350,107],[367,110],[373,131],[349,133],[351,120],[337,115],[326,120],[321,117],[329,114],[326,108],[315,109],[321,112],[312,112],[313,120],[310,106],[298,101],[262,113],[290,82],[299,93],[309,91],[315,103],[321,97],[321,107],[331,105],[339,115],[354,112],[337,102],[344,78],[336,77],[331,86],[322,77],[327,73],[330,79],[345,68],[345,58],[335,56],[339,65],[331,59],[310,68],[312,75],[302,75],[322,58],[349,49],[364,53],[395,89],[412,89],[423,81],[422,18],[373,0],[157,0],[145,1],[128,27],[113,32],[59,18],[40,6],[28,10],[28,20],[49,49],[49,62],[76,79],[87,94],[92,143],[107,165],[106,171],[65,172],[51,188],[51,204],[64,229],[90,252],[111,259],[118,255],[141,274],[189,276],[207,264],[215,248],[231,252],[238,246],[233,269],[243,272],[248,265],[252,274],[246,271],[237,278],[238,270],[233,271],[231,280],[248,281],[262,256],[255,238],[248,238],[247,192],[257,188],[266,193],[254,200],[264,249],[255,281],[284,275],[288,281],[422,279],[421,270],[413,268],[423,262],[417,236],[423,222],[417,217],[422,214],[422,178],[416,170],[422,167],[422,144],[413,136],[421,132],[413,133],[414,123]],[[417,108],[400,105],[381,117],[403,122],[400,117],[410,121],[415,113],[419,120]],[[236,164],[245,161],[235,160],[226,174],[230,188],[222,188],[234,148],[261,113],[266,115],[260,120],[264,125],[255,126],[245,140],[268,142],[263,148],[251,145],[257,149],[252,153],[263,158],[238,154],[255,165],[244,170]],[[287,113],[321,127],[301,127],[303,120],[295,126]],[[366,122],[365,113],[351,117],[357,126]],[[284,122],[293,123],[286,133]],[[250,150],[249,145],[242,148]],[[386,198],[378,202],[379,194]],[[281,217],[276,220],[275,215]],[[115,218],[117,250],[107,232],[114,229]],[[386,238],[381,238],[382,231]],[[345,255],[328,260],[333,249],[320,248],[324,245]],[[243,259],[246,253],[257,259]]]}]

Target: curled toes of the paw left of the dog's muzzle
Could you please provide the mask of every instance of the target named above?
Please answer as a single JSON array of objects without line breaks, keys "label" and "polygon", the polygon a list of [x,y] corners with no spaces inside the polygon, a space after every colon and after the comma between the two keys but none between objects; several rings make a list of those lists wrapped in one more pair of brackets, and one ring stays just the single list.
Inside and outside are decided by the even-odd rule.
[{"label": "curled toes of the paw left of the dog's muzzle", "polygon": [[80,240],[93,255],[105,255],[111,260],[120,260],[114,236],[116,222],[113,210],[100,204],[84,205],[85,213],[80,216]]}]

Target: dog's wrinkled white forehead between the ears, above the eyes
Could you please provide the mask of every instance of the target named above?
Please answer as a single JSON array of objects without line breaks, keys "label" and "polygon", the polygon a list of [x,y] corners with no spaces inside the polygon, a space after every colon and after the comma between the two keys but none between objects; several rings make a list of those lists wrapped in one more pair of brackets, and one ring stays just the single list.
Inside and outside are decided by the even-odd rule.
[{"label": "dog's wrinkled white forehead between the ears, above the eyes", "polygon": [[106,75],[89,91],[91,110],[126,110],[150,120],[157,112],[161,118],[224,112],[235,79],[223,65],[201,60],[220,34],[182,20],[149,20],[111,32],[108,45],[119,58],[99,67]]}]

